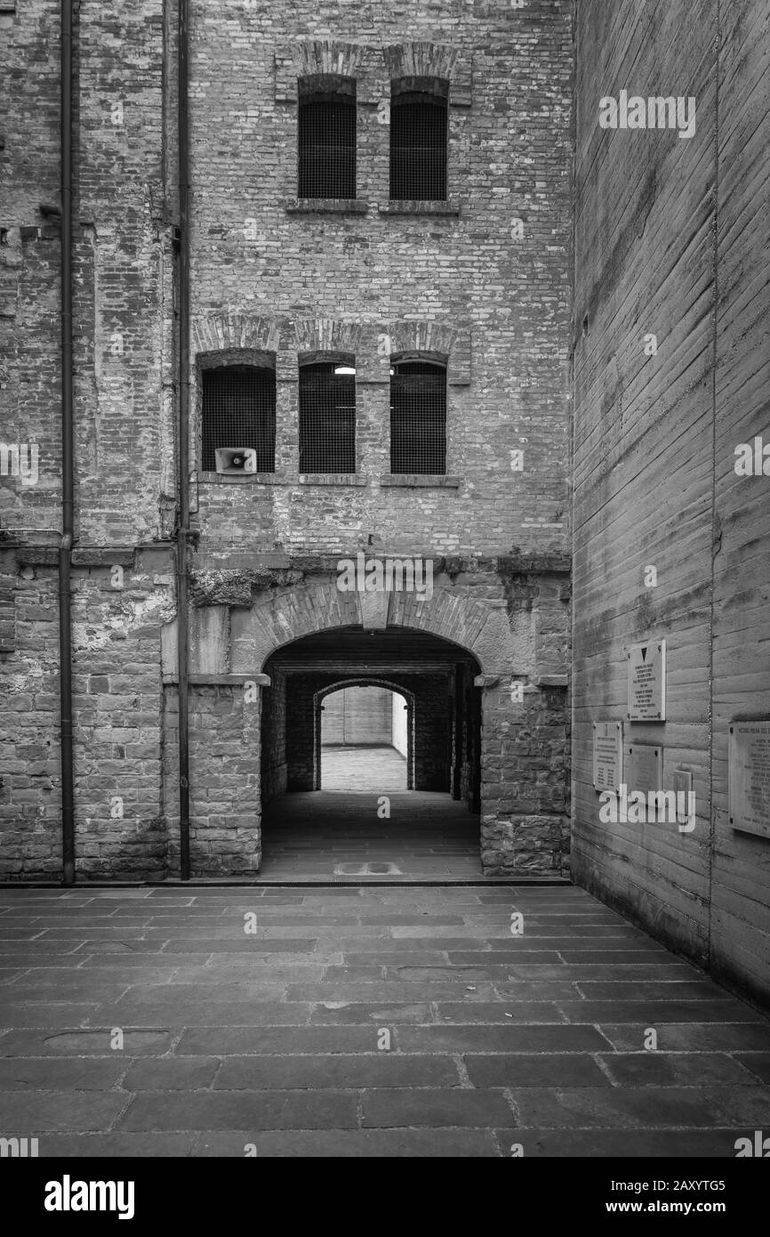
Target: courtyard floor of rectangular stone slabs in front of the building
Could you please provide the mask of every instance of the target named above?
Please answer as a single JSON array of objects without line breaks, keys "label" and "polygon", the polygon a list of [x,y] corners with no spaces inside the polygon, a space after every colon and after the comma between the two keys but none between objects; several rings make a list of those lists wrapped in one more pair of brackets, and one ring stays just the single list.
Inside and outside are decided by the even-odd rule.
[{"label": "courtyard floor of rectangular stone slabs in front of the building", "polygon": [[770,1128],[768,1022],[567,886],[1,891],[0,949],[0,1134],[41,1157],[733,1158]]}]

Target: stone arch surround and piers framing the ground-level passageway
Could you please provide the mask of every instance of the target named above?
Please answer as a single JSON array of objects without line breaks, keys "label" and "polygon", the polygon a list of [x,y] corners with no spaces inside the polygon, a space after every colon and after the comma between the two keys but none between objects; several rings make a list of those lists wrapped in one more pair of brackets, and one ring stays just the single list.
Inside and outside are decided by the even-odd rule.
[{"label": "stone arch surround and piers framing the ground-level passageway", "polygon": [[[261,709],[264,705],[269,710],[271,695],[273,703],[276,699],[268,659],[305,638],[358,631],[389,632],[407,642],[415,635],[436,637],[451,643],[462,657],[473,659],[476,673],[471,689],[478,698],[481,715],[477,755],[484,871],[489,875],[564,872],[569,837],[565,803],[567,680],[556,661],[556,640],[551,635],[564,621],[560,581],[523,574],[512,580],[501,569],[496,596],[489,590],[488,575],[481,588],[477,586],[480,578],[470,569],[460,574],[451,560],[434,563],[430,597],[407,591],[341,591],[337,562],[330,558],[283,559],[286,565],[281,568],[213,569],[197,574],[192,615],[193,669],[201,672],[199,678],[206,684],[200,689],[204,695],[211,695],[211,683],[220,685],[214,691],[220,710],[224,708],[220,698],[227,685],[232,709],[239,717],[242,715],[242,721],[232,727],[226,784],[241,826],[240,837],[247,837],[252,847],[250,870],[258,863],[262,800],[266,792],[268,797],[273,792],[282,793],[281,777],[286,778],[286,769],[279,771],[273,785],[266,785],[260,742],[255,745]],[[168,646],[171,648],[171,637]],[[350,669],[349,666],[339,667],[337,678],[350,674]],[[241,705],[247,683],[258,696],[248,713]],[[198,690],[195,675],[193,684]],[[201,717],[208,708],[204,700]],[[204,729],[201,740],[205,734],[210,731]],[[200,762],[198,767],[193,764],[195,803],[198,768],[203,769],[204,779],[209,773],[209,750],[201,741],[198,752],[197,742],[197,736],[192,735],[190,747],[195,762]],[[311,745],[303,778],[309,778],[309,783],[303,781],[302,787],[311,789]],[[456,781],[465,785],[462,778]],[[218,825],[221,828],[221,824],[220,815]],[[203,833],[198,825],[195,828],[205,836],[205,821]],[[224,850],[222,840],[218,840],[218,847]],[[218,870],[240,870],[241,854],[240,842],[234,844]],[[206,868],[199,865],[199,870]]]}]

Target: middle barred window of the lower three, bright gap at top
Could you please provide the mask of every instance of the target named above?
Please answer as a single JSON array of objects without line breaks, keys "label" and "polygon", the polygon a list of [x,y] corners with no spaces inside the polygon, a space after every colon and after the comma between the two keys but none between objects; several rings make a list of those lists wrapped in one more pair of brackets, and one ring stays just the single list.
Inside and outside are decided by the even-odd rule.
[{"label": "middle barred window of the lower three, bright gap at top", "polygon": [[299,366],[299,471],[356,471],[352,356]]}]

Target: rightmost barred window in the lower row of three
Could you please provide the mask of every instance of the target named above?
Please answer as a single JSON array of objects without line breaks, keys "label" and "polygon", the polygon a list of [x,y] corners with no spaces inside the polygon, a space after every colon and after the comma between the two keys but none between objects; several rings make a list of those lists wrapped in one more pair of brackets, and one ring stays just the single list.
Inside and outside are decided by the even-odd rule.
[{"label": "rightmost barred window in the lower row of three", "polygon": [[446,366],[391,362],[391,473],[446,471]]}]

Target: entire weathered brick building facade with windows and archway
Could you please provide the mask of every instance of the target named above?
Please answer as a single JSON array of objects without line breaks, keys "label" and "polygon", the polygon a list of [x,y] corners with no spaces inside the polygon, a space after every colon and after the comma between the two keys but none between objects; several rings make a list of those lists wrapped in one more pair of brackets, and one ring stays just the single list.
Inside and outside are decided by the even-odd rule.
[{"label": "entire weathered brick building facade with windows and archway", "polygon": [[[40,475],[0,479],[0,863],[44,880],[61,872],[58,5],[7,9],[4,439],[36,444]],[[569,0],[190,5],[194,876],[258,871],[262,803],[315,784],[319,699],[363,680],[409,693],[414,785],[478,810],[486,871],[564,870],[571,22]],[[73,46],[75,870],[162,878],[179,871],[176,5],[80,6]],[[328,87],[353,99],[355,192],[300,197],[299,113]],[[391,111],[431,92],[446,184],[407,198]],[[324,361],[355,370],[353,454],[303,471],[303,366]],[[445,454],[408,473],[402,361],[445,382]],[[206,374],[224,367],[273,383],[272,470],[211,466]],[[430,563],[433,596],[340,591],[357,553]]]}]

